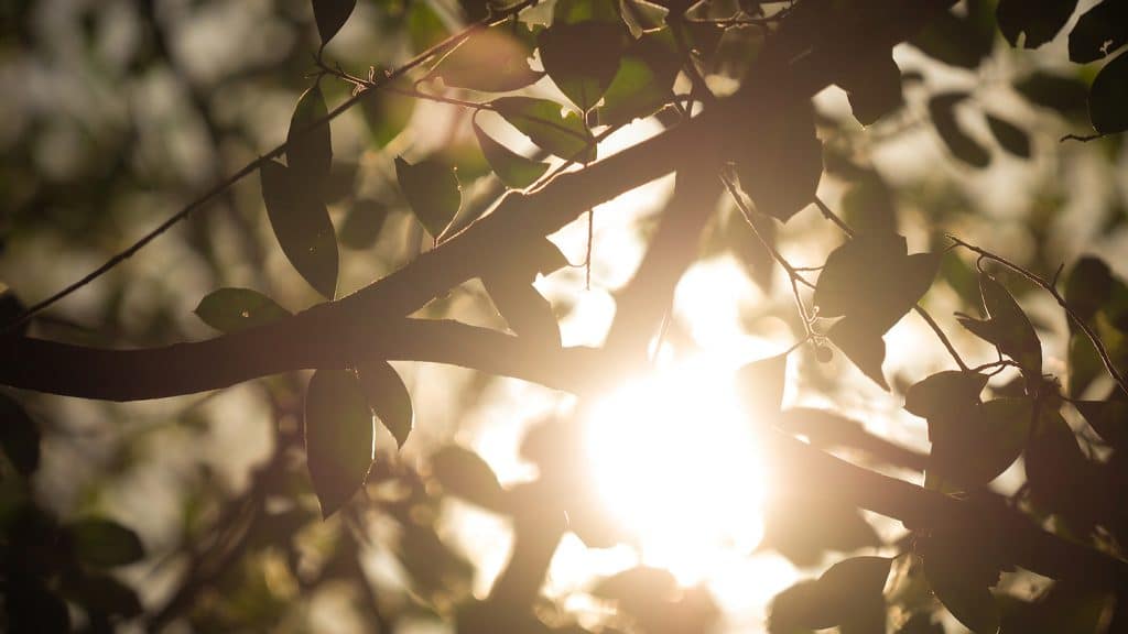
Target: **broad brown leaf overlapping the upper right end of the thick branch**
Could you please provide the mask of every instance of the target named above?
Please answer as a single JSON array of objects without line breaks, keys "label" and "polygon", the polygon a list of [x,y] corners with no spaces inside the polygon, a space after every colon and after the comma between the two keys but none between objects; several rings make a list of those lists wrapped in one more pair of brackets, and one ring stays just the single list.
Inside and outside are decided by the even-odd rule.
[{"label": "broad brown leaf overlapping the upper right end of the thick branch", "polygon": [[760,213],[787,221],[814,200],[822,177],[822,142],[809,106],[792,108],[764,127],[755,148],[737,160],[740,186]]}]

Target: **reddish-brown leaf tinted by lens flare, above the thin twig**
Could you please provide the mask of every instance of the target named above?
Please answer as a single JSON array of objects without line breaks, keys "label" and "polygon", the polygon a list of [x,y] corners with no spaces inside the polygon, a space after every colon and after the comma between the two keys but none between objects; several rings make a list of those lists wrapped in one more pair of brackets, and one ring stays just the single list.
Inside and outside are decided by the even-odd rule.
[{"label": "reddish-brown leaf tinted by lens flare, above the thin twig", "polygon": [[514,27],[505,23],[474,33],[439,61],[431,74],[441,77],[448,87],[484,93],[508,93],[537,81],[543,73],[529,67],[532,51],[510,28]]}]

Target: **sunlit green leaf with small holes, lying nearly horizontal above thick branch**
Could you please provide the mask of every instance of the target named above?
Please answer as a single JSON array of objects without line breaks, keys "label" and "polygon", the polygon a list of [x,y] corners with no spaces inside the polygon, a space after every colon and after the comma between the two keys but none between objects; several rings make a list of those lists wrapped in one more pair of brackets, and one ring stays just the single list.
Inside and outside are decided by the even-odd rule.
[{"label": "sunlit green leaf with small holes, lying nearly horizontal above thick branch", "polygon": [[562,115],[558,104],[531,97],[502,97],[491,104],[545,151],[583,164],[596,160],[596,140],[575,113]]}]

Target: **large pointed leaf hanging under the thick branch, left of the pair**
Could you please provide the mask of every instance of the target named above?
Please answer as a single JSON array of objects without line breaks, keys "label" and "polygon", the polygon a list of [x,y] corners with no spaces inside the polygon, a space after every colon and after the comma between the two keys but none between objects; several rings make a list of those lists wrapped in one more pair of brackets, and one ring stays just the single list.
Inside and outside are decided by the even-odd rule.
[{"label": "large pointed leaf hanging under the thick branch, left of the pair", "polygon": [[328,518],[356,493],[373,458],[372,411],[356,375],[320,369],[306,388],[306,463]]}]

